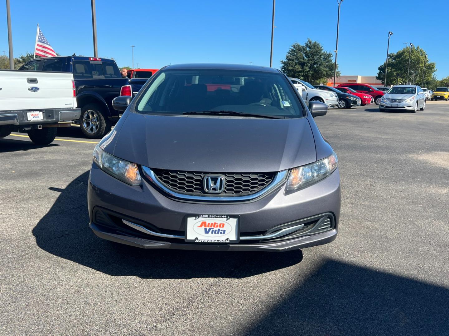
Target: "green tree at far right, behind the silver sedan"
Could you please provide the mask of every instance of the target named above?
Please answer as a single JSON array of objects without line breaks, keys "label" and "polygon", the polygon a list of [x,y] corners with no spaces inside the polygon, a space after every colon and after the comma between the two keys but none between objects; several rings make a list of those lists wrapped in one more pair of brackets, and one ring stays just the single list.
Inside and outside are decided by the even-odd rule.
[{"label": "green tree at far right, behind the silver sedan", "polygon": [[[385,85],[399,85],[405,84],[407,82],[407,70],[409,66],[409,55],[410,55],[410,72],[409,72],[409,82],[414,85],[421,86],[423,84],[423,64],[425,50],[413,46],[405,47],[396,53],[391,53],[388,55],[388,71],[387,71],[387,83],[383,83],[385,80],[385,63],[380,65],[378,68],[378,73],[376,78],[382,81]],[[436,64],[435,62],[430,62],[426,57],[426,68],[424,73],[424,85],[423,87],[432,88],[436,84]]]}]

